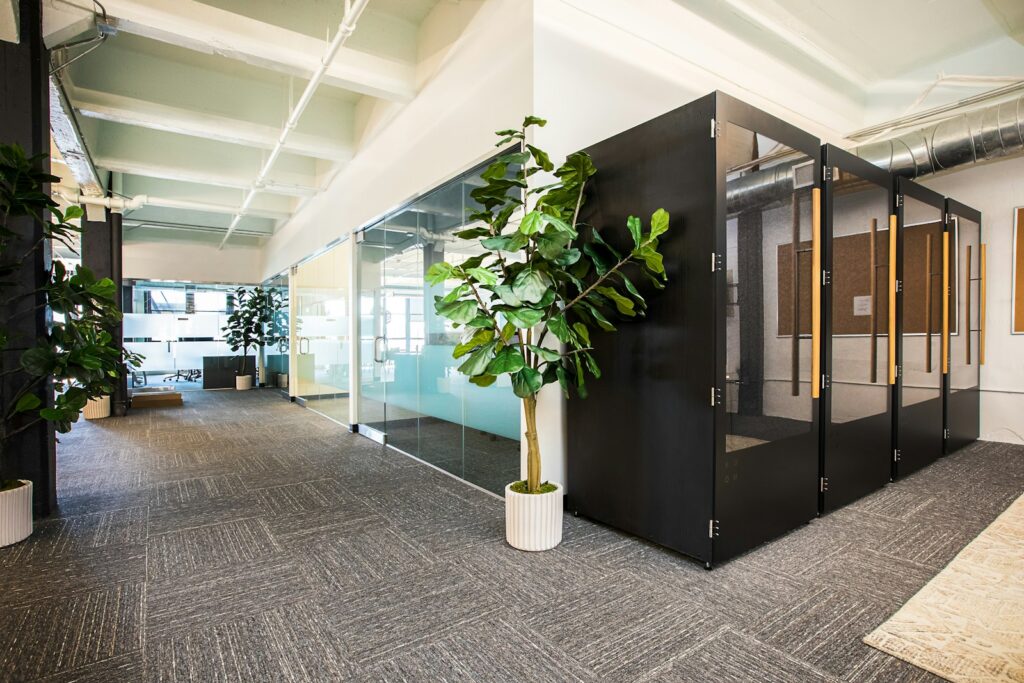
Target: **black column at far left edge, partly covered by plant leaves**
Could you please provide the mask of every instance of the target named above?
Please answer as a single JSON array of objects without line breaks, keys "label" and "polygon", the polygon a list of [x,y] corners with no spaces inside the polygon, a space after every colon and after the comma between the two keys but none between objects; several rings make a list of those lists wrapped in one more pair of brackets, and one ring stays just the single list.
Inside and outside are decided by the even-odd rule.
[{"label": "black column at far left edge, partly covered by plant leaves", "polygon": [[[20,144],[30,156],[49,153],[49,54],[43,45],[42,4],[40,0],[20,0],[18,3],[20,42],[0,41],[0,139]],[[49,171],[49,160],[42,162]],[[49,191],[49,187],[45,188]],[[40,227],[31,220],[12,220],[8,226],[16,233],[8,253],[24,253],[42,237]],[[44,285],[48,279],[50,249],[36,250],[9,278],[13,287],[6,290],[12,295],[31,292]],[[4,370],[16,368],[22,349],[33,344],[46,332],[48,311],[41,305],[42,294],[29,298],[17,307],[0,309],[0,323],[7,328],[11,339],[8,350],[3,352]],[[27,305],[31,304],[31,305]],[[25,382],[25,377],[14,374],[0,381],[0,392],[6,399]],[[38,395],[52,403],[53,390],[47,382]],[[33,482],[36,514],[49,514],[56,507],[56,458],[53,427],[38,424],[13,437],[4,454],[5,476],[16,476]]]}]

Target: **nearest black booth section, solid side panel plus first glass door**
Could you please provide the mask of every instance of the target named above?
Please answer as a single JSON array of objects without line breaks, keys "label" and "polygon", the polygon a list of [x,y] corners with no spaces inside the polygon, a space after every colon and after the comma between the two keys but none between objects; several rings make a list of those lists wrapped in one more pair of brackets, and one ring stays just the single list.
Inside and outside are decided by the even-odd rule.
[{"label": "nearest black booth section, solid side panel plus first glass door", "polygon": [[[800,292],[820,144],[713,93],[588,152],[598,173],[583,220],[621,228],[667,209],[670,283],[647,293],[645,319],[594,341],[602,378],[568,402],[567,505],[711,566],[817,513]],[[784,283],[796,315],[783,330]]]}]

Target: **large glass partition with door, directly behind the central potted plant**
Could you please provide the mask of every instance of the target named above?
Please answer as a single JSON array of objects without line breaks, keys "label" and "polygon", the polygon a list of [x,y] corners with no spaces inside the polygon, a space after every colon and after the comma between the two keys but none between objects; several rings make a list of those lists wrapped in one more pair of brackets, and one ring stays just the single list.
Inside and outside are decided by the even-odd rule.
[{"label": "large glass partition with door, directly behind the central potted plant", "polygon": [[481,165],[357,237],[359,431],[481,488],[519,477],[519,401],[508,376],[482,388],[452,357],[460,331],[434,313],[449,290],[425,282],[438,261],[479,253],[469,224]]}]

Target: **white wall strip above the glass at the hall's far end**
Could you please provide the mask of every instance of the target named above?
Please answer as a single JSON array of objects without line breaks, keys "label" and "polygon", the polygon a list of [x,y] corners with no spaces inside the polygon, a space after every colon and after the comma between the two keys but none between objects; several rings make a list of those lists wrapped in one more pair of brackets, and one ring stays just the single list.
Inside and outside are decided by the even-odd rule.
[{"label": "white wall strip above the glass at the hall's far end", "polygon": [[124,276],[194,283],[251,285],[262,278],[259,247],[185,242],[126,242],[122,249]]}]

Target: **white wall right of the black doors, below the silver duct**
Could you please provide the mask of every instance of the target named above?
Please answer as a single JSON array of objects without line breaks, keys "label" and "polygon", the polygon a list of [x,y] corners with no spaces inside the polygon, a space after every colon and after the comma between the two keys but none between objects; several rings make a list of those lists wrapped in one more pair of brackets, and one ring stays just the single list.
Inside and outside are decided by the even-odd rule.
[{"label": "white wall right of the black doors, below the silver duct", "polygon": [[1014,207],[1024,206],[1024,158],[967,168],[922,184],[982,213],[988,299],[981,435],[1024,443],[1024,335],[1010,333]]}]

